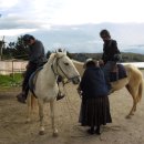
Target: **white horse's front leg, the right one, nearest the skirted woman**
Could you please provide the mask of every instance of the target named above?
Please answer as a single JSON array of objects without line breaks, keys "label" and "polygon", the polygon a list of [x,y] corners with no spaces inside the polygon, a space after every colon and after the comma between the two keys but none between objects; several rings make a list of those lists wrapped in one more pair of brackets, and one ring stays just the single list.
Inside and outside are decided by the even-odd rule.
[{"label": "white horse's front leg, the right one, nearest the skirted woman", "polygon": [[55,105],[54,100],[50,102],[50,109],[51,109],[51,121],[52,121],[52,130],[53,130],[53,136],[58,136],[58,130],[55,127]]}]

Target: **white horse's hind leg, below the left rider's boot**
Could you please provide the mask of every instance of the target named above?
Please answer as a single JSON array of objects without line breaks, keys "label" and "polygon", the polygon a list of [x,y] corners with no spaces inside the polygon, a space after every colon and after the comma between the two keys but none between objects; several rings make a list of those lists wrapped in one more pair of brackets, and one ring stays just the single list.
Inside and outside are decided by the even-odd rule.
[{"label": "white horse's hind leg, below the left rider's boot", "polygon": [[27,104],[28,104],[28,110],[27,110],[27,123],[31,121],[31,93],[29,92],[28,97],[27,97]]}]

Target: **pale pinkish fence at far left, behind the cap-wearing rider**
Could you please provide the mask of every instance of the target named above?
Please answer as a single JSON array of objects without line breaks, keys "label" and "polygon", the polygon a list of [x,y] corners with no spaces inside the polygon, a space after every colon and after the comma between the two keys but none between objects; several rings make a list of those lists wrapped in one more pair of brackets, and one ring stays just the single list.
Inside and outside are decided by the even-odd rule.
[{"label": "pale pinkish fence at far left, behind the cap-wearing rider", "polygon": [[25,71],[27,64],[28,61],[20,60],[0,61],[0,74],[22,73]]}]

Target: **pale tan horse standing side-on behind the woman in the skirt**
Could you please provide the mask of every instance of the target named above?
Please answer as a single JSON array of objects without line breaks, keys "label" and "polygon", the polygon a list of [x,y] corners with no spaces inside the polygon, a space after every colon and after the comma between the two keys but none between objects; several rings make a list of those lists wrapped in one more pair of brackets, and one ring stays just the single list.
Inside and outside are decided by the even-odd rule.
[{"label": "pale tan horse standing side-on behind the woman in the skirt", "polygon": [[[73,60],[73,63],[75,68],[78,69],[80,75],[83,74],[84,69],[82,62]],[[133,106],[126,116],[130,119],[132,115],[134,115],[134,112],[136,111],[136,104],[141,101],[142,94],[143,94],[143,89],[144,89],[144,80],[143,80],[143,74],[142,72],[134,65],[132,64],[126,64],[124,65],[127,78],[121,79],[119,81],[112,82],[112,92],[117,91],[122,88],[126,88],[130,94],[133,97]]]}]

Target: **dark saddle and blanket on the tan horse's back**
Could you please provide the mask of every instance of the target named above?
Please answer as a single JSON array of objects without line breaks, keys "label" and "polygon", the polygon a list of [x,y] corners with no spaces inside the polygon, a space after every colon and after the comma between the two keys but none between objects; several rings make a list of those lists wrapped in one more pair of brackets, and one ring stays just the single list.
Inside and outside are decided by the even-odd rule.
[{"label": "dark saddle and blanket on the tan horse's back", "polygon": [[110,81],[115,82],[117,80],[127,78],[126,70],[124,65],[116,64],[113,70],[110,72]]}]

